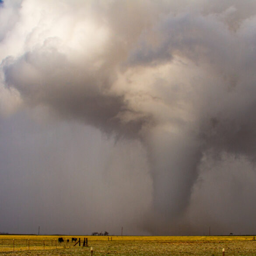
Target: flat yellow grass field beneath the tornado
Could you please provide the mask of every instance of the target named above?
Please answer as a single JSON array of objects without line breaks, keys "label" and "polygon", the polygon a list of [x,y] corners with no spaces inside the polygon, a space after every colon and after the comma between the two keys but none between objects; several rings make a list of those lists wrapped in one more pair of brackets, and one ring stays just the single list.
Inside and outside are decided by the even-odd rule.
[{"label": "flat yellow grass field beneath the tornado", "polygon": [[[256,256],[253,236],[72,236],[0,235],[3,256]],[[82,247],[88,238],[88,247]],[[109,238],[109,241],[108,241]],[[112,238],[112,241],[111,241]],[[29,239],[29,240],[28,240]],[[67,242],[70,239],[70,242]]]}]

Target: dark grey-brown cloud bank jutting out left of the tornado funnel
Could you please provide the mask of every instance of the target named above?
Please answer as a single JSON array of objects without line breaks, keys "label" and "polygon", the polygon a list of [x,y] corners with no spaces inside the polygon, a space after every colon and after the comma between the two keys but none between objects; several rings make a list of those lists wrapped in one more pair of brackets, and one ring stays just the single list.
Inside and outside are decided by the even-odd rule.
[{"label": "dark grey-brown cloud bank jutting out left of the tornado funnel", "polygon": [[[63,118],[80,119],[107,133],[137,136],[150,117],[129,109],[124,95],[109,92],[115,72],[106,69],[110,74],[105,67],[73,67],[63,54],[47,48],[26,53],[14,63],[4,65],[5,83],[15,84],[28,104],[49,105]],[[126,112],[133,119],[119,118]]]}]

